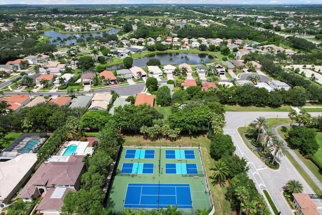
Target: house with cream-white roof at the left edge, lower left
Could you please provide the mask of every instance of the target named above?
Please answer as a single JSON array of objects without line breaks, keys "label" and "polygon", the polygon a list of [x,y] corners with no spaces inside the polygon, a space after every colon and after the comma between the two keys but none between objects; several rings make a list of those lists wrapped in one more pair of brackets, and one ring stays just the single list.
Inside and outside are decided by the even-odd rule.
[{"label": "house with cream-white roof at the left edge, lower left", "polygon": [[8,204],[34,170],[37,154],[24,153],[1,162],[0,200]]}]

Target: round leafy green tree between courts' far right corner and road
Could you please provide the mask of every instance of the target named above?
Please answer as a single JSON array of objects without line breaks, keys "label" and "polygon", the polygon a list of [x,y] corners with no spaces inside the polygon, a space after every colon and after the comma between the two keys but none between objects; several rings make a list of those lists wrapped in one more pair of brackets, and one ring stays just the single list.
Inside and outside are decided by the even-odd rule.
[{"label": "round leafy green tree between courts' far right corner and road", "polygon": [[216,160],[231,156],[236,150],[229,135],[217,134],[211,138],[210,143],[210,156]]}]

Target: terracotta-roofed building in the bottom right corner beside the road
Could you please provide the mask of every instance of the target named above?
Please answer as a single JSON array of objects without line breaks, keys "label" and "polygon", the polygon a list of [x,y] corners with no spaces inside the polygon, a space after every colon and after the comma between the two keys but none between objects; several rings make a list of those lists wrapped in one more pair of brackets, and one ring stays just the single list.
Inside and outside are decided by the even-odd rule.
[{"label": "terracotta-roofed building in the bottom right corner beside the road", "polygon": [[293,204],[300,215],[318,215],[317,206],[306,193],[292,193]]}]

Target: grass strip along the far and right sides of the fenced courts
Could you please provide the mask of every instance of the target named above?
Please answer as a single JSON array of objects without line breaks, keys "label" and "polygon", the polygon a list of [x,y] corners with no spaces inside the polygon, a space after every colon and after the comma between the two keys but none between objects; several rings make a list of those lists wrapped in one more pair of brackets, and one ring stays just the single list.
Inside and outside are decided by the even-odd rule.
[{"label": "grass strip along the far and right sides of the fenced courts", "polygon": [[[147,145],[149,140],[143,140],[142,135],[132,135],[132,136],[125,136],[125,144],[126,142],[138,142],[138,144]],[[203,135],[194,135],[194,136],[183,136],[182,139],[179,139],[178,142],[185,142],[186,143],[196,143],[200,144],[202,157],[204,161],[204,166],[206,169],[206,174],[208,177],[209,183],[211,183],[212,179],[209,177],[211,176],[210,168],[214,164],[214,160],[210,158],[210,140]],[[159,145],[159,141],[151,142],[152,146],[155,143],[156,146]],[[168,141],[169,143],[169,141]],[[177,142],[174,142],[176,145]],[[215,207],[215,215],[234,215],[235,212],[230,208],[230,202],[225,199],[226,187],[219,187],[219,186],[212,186],[209,184],[212,197],[214,200],[214,207]]]}]

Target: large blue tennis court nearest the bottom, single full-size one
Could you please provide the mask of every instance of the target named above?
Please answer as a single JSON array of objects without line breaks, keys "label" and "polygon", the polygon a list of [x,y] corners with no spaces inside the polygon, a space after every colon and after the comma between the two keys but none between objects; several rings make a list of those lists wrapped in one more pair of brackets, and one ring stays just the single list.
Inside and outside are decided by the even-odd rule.
[{"label": "large blue tennis court nearest the bottom, single full-size one", "polygon": [[191,209],[190,184],[129,183],[127,185],[125,208],[167,208],[167,205]]}]

